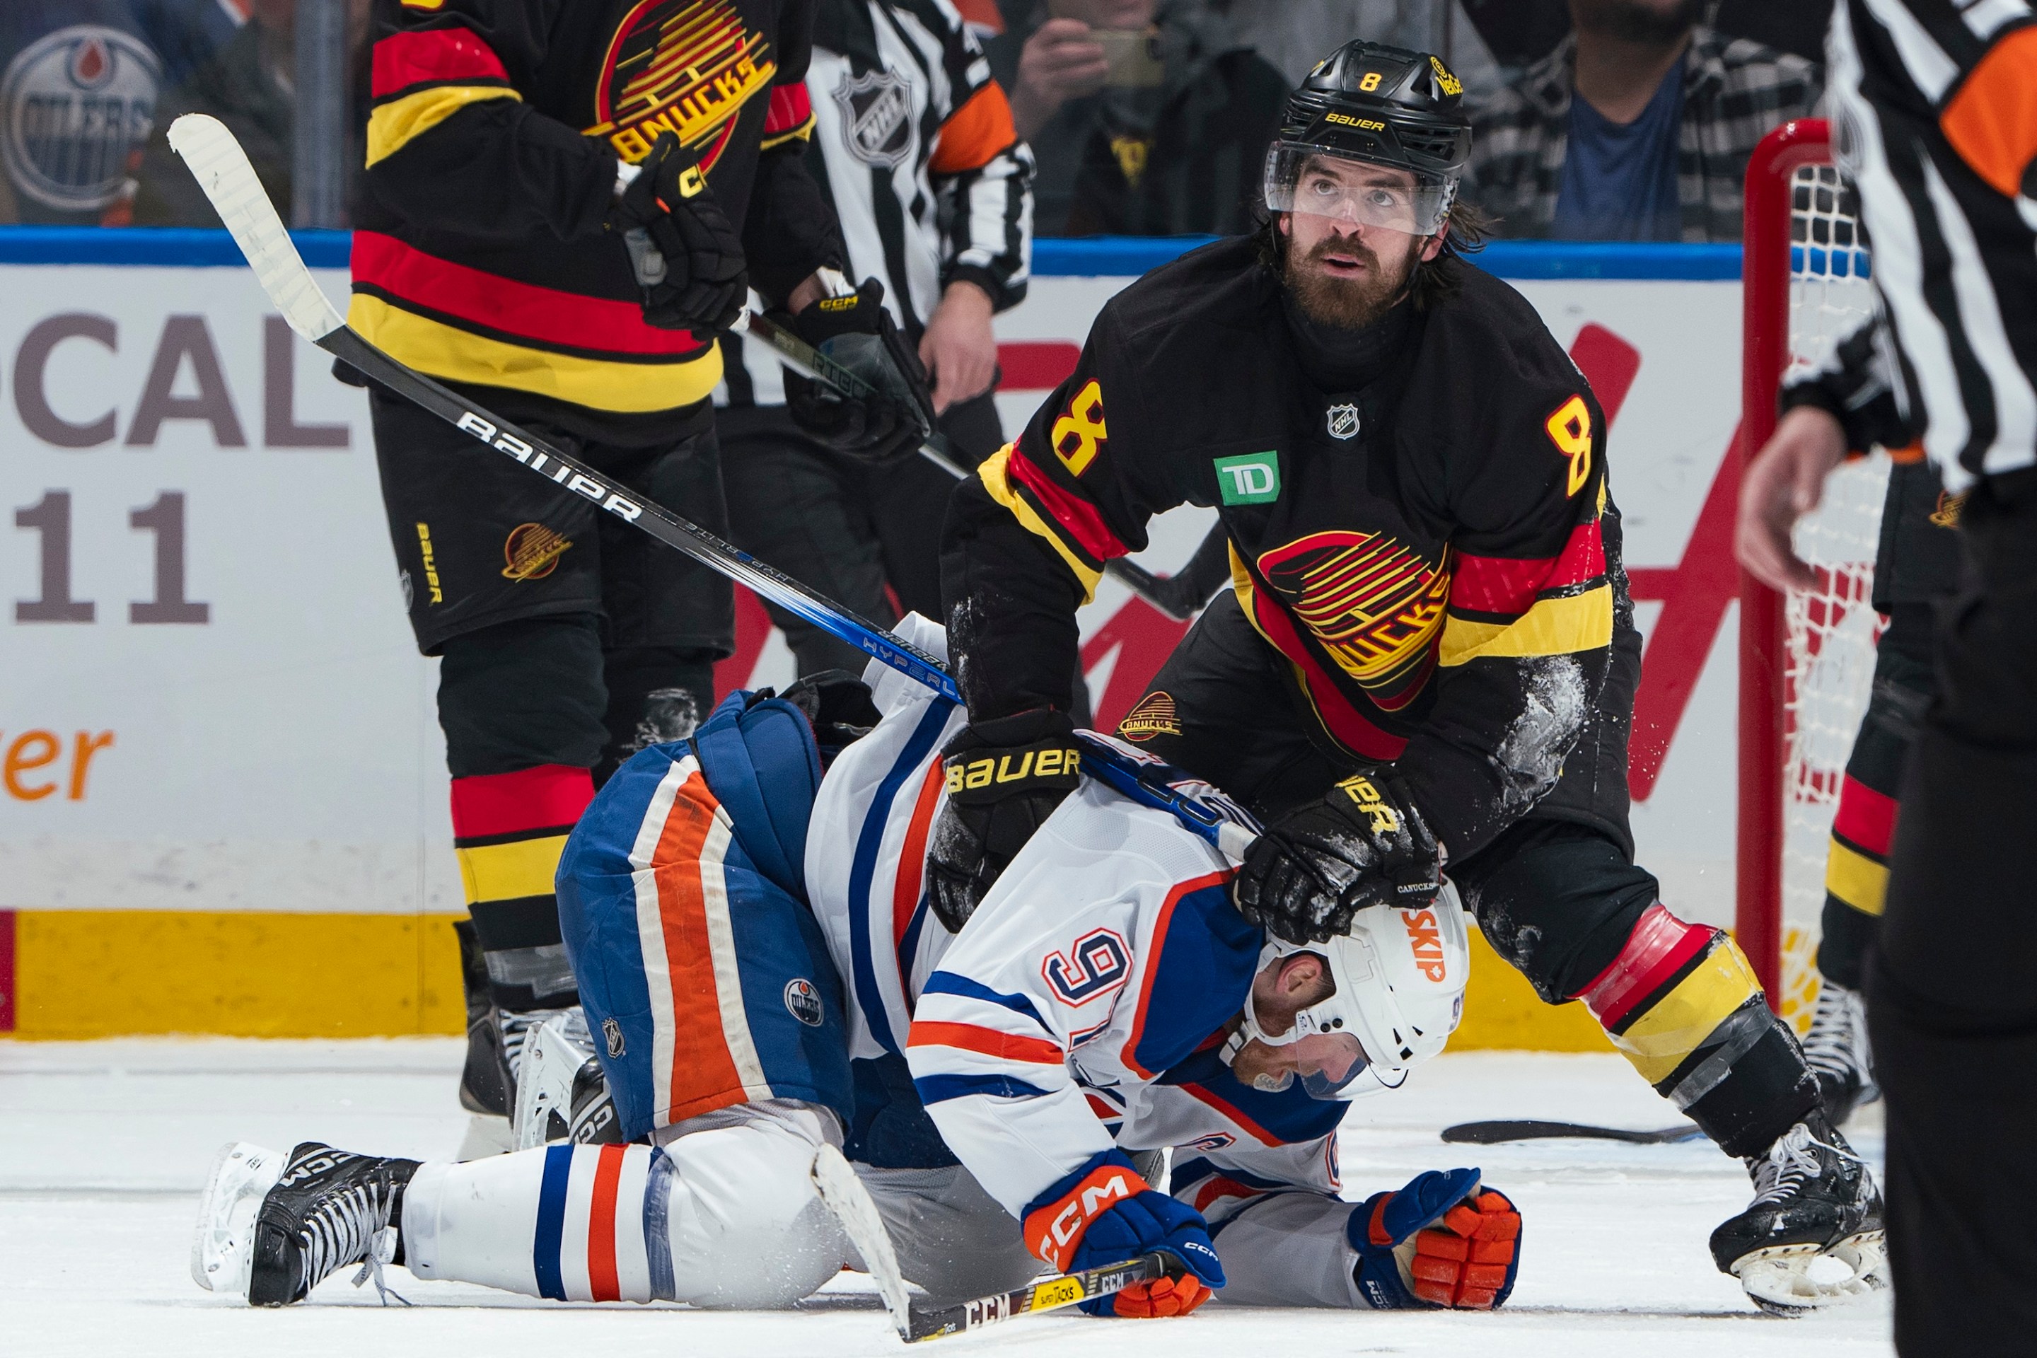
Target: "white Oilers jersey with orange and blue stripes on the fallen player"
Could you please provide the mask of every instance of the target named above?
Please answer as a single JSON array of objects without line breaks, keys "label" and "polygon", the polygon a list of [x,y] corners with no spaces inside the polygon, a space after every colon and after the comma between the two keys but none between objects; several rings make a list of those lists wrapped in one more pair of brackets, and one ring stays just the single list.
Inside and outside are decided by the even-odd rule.
[{"label": "white Oilers jersey with orange and blue stripes on the fallen player", "polygon": [[[898,631],[945,649],[925,619]],[[866,680],[884,721],[829,768],[807,837],[849,1055],[904,1057],[941,1140],[1051,1264],[1057,1236],[1108,1207],[1098,1156],[1171,1148],[1171,1193],[1210,1222],[1226,1299],[1363,1305],[1338,1199],[1346,1104],[1251,1089],[1220,1059],[1263,947],[1230,904],[1234,867],[1086,778],[947,932],[925,853],[966,713],[876,664]]]}]

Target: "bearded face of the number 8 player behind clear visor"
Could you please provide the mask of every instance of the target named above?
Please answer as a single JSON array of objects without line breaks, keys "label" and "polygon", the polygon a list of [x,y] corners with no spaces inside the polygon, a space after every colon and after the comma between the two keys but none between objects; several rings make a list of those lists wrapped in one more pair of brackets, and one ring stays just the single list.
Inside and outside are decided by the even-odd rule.
[{"label": "bearded face of the number 8 player behind clear visor", "polygon": [[1359,330],[1406,295],[1416,265],[1442,250],[1442,232],[1414,234],[1416,197],[1403,169],[1332,155],[1302,165],[1279,232],[1287,238],[1283,277],[1304,316]]}]

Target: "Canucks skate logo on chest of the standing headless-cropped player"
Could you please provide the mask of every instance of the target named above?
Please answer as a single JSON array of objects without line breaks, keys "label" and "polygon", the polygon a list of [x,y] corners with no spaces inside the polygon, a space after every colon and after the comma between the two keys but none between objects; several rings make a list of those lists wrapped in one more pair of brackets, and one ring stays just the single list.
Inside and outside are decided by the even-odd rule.
[{"label": "Canucks skate logo on chest of the standing headless-cropped player", "polygon": [[642,0],[615,24],[595,90],[599,122],[587,134],[634,165],[660,132],[674,132],[701,147],[705,175],[729,145],[735,114],[778,73],[766,47],[727,0]]}]

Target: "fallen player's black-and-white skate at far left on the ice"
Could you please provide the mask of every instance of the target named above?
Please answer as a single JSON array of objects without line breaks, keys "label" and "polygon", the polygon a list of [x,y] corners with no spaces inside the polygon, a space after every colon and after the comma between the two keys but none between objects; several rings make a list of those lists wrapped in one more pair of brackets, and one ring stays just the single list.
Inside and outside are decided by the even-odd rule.
[{"label": "fallen player's black-and-white skate at far left on the ice", "polygon": [[[383,1305],[383,1264],[397,1256],[403,1187],[418,1161],[395,1161],[299,1142],[289,1156],[234,1142],[220,1150],[198,1211],[191,1279],[249,1305],[281,1307],[346,1264],[354,1287],[375,1283]],[[397,1301],[403,1301],[397,1297]],[[405,1301],[405,1305],[409,1305]]]}]

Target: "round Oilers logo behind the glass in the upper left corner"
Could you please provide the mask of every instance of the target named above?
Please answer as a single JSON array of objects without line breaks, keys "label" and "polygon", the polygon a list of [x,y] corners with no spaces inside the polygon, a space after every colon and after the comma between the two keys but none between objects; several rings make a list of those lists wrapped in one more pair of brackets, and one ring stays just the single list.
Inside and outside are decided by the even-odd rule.
[{"label": "round Oilers logo behind the glass in the upper left corner", "polygon": [[37,39],[0,75],[0,159],[14,189],[53,212],[100,212],[128,185],[163,71],[130,33],[71,24]]}]

